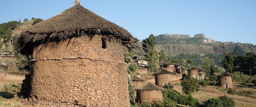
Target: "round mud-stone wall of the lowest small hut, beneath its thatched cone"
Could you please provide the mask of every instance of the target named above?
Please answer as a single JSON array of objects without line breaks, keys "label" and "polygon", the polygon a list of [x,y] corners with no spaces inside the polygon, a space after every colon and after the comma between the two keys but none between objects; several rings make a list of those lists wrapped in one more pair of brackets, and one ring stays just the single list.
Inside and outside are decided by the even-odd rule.
[{"label": "round mud-stone wall of the lowest small hut, beneath its thatched cone", "polygon": [[139,103],[154,103],[154,101],[159,100],[163,100],[161,90],[137,91],[136,101]]}]

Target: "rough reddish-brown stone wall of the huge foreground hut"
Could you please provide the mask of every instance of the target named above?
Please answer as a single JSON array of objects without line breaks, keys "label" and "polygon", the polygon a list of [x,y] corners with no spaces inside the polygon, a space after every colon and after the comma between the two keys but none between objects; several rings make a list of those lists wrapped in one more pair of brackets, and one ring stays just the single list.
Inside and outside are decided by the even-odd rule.
[{"label": "rough reddish-brown stone wall of the huge foreground hut", "polygon": [[33,101],[86,107],[129,107],[127,65],[121,40],[82,36],[34,48]]}]

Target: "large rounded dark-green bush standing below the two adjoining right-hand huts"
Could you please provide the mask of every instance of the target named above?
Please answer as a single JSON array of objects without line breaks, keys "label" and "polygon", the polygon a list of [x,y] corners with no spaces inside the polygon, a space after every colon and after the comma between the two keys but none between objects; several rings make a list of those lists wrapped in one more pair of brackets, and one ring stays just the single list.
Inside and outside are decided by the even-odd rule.
[{"label": "large rounded dark-green bush standing below the two adjoining right-hand huts", "polygon": [[185,76],[181,82],[182,90],[186,94],[191,94],[196,91],[198,89],[197,85],[197,79],[194,79],[191,76]]}]

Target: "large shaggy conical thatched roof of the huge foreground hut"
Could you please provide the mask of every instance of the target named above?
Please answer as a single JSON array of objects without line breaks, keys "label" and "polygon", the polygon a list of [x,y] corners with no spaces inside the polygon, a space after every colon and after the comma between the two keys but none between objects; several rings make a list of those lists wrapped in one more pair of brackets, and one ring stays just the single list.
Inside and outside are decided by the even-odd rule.
[{"label": "large shaggy conical thatched roof of the huge foreground hut", "polygon": [[23,31],[15,42],[15,47],[21,54],[31,54],[31,49],[41,43],[94,35],[117,37],[128,48],[139,47],[139,40],[127,30],[85,9],[79,3]]}]

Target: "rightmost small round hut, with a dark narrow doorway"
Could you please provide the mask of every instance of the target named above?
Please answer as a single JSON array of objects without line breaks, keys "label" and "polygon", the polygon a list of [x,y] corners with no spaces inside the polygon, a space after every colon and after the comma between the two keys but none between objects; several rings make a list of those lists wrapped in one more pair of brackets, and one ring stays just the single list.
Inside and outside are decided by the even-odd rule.
[{"label": "rightmost small round hut, with a dark narrow doorway", "polygon": [[231,75],[228,73],[221,73],[218,75],[219,78],[219,86],[223,88],[233,88],[232,78]]}]

